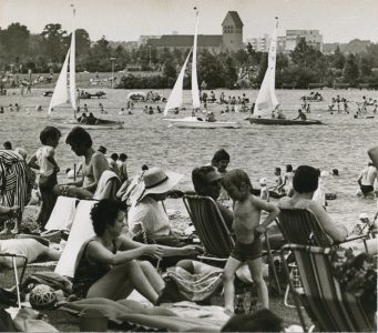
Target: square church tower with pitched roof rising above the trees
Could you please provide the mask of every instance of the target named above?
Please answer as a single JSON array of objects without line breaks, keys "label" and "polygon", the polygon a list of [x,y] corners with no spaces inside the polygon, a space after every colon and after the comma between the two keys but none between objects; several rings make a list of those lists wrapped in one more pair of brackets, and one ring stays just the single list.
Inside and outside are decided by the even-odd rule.
[{"label": "square church tower with pitched roof rising above the trees", "polygon": [[237,11],[228,11],[222,23],[223,49],[237,51],[243,49],[243,22]]}]

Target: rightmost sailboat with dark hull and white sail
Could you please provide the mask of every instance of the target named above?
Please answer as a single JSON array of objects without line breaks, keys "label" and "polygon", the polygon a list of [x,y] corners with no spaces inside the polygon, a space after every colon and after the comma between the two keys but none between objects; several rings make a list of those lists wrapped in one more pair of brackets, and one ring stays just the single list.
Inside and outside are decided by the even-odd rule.
[{"label": "rightmost sailboat with dark hull and white sail", "polygon": [[[280,125],[310,125],[321,124],[319,120],[290,120],[285,119],[279,110],[279,102],[276,97],[275,84],[276,84],[276,53],[277,53],[277,30],[278,30],[278,18],[276,18],[276,27],[272,33],[272,40],[268,53],[268,67],[266,69],[263,83],[259,88],[257,99],[255,102],[254,117],[248,118],[251,123],[256,124],[280,124]],[[275,114],[277,111],[278,114]]]}]

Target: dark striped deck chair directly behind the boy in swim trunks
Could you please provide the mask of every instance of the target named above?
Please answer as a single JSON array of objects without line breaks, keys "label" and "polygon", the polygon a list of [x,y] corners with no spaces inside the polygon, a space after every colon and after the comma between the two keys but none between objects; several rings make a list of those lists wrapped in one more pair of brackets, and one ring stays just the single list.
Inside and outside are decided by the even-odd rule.
[{"label": "dark striped deck chair directly behind the boy in swim trunks", "polygon": [[[198,234],[200,241],[205,248],[205,255],[198,255],[198,259],[225,263],[235,245],[235,240],[229,232],[215,200],[210,196],[185,194],[183,201]],[[282,294],[270,244],[266,234],[265,238],[267,240],[267,251],[263,255],[268,256],[278,293]]]}]

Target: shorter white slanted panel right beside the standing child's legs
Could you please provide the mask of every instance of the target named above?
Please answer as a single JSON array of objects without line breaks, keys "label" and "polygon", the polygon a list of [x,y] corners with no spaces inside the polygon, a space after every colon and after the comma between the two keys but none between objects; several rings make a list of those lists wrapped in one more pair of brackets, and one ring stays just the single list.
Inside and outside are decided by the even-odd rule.
[{"label": "shorter white slanted panel right beside the standing child's legs", "polygon": [[54,209],[45,224],[45,230],[70,230],[72,226],[79,200],[69,196],[58,196]]}]

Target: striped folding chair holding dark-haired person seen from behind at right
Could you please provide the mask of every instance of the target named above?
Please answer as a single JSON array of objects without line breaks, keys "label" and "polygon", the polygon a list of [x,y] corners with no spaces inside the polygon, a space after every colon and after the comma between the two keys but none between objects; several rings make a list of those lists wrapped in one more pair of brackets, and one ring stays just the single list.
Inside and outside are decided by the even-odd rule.
[{"label": "striped folding chair holding dark-haired person seen from behind at right", "polygon": [[[277,225],[288,243],[300,245],[315,245],[320,248],[331,248],[339,243],[333,243],[327,236],[325,230],[320,225],[317,218],[309,210],[305,209],[280,209],[279,215],[276,219]],[[347,239],[345,242],[355,241],[367,238],[367,235],[358,235]],[[292,265],[296,274],[296,266]],[[289,284],[285,291],[284,303],[286,306],[292,306],[288,303]]]}]

